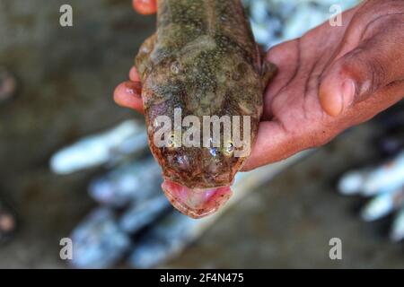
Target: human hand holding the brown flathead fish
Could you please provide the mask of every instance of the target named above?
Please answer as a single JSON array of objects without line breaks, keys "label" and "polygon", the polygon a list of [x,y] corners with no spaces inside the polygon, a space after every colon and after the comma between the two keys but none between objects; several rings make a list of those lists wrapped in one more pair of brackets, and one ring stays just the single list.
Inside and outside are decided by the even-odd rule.
[{"label": "human hand holding the brown flathead fish", "polygon": [[[268,51],[279,73],[264,95],[259,135],[244,170],[329,143],[403,98],[404,3],[369,0],[342,20],[341,27],[326,22]],[[115,100],[143,110],[135,68],[129,77]]]}]

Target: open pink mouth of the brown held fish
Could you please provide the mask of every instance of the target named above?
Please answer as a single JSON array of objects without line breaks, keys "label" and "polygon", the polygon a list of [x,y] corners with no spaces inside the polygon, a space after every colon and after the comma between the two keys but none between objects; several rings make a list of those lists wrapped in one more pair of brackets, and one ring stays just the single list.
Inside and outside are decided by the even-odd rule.
[{"label": "open pink mouth of the brown held fish", "polygon": [[165,179],[162,190],[181,213],[199,219],[215,213],[233,195],[230,187],[192,189]]}]

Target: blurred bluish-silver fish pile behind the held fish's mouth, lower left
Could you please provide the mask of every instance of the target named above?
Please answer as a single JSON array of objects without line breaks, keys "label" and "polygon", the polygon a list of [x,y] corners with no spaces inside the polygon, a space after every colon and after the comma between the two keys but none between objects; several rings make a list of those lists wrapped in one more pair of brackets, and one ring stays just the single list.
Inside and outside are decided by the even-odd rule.
[{"label": "blurred bluish-silver fish pile behind the held fish's mouth, lower left", "polygon": [[[125,146],[134,139],[136,148],[131,145],[129,152]],[[128,120],[52,157],[51,169],[60,175],[101,165],[109,170],[89,184],[88,193],[100,206],[71,234],[74,267],[107,268],[124,258],[135,268],[160,265],[180,254],[224,213],[193,220],[175,211],[162,193],[162,170],[147,151],[144,124]],[[302,156],[239,175],[226,208]]]}]

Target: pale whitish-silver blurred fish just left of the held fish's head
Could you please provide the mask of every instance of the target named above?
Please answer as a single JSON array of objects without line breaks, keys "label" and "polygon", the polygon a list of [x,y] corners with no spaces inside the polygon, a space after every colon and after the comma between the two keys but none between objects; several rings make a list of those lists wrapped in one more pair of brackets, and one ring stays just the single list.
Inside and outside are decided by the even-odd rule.
[{"label": "pale whitish-silver blurred fish just left of the held fish's head", "polygon": [[57,174],[69,174],[118,161],[129,154],[145,151],[146,147],[145,126],[136,120],[127,120],[56,152],[50,159],[50,169]]}]

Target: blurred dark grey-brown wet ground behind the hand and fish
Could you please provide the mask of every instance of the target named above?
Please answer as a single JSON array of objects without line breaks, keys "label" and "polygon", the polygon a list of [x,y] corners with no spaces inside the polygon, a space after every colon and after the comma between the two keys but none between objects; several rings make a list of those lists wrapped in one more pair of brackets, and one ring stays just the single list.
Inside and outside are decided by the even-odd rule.
[{"label": "blurred dark grey-brown wet ground behind the hand and fish", "polygon": [[[72,4],[74,27],[59,25]],[[97,170],[59,177],[48,158],[80,136],[134,117],[112,101],[136,49],[154,30],[153,17],[128,0],[2,0],[0,65],[19,83],[0,102],[0,198],[19,214],[20,230],[0,247],[0,267],[57,267],[59,239],[92,208],[86,194]],[[174,267],[403,267],[401,244],[388,224],[360,222],[362,201],[338,196],[344,170],[372,162],[361,126],[251,193],[198,239]],[[329,239],[343,242],[343,260],[329,259]]]}]

